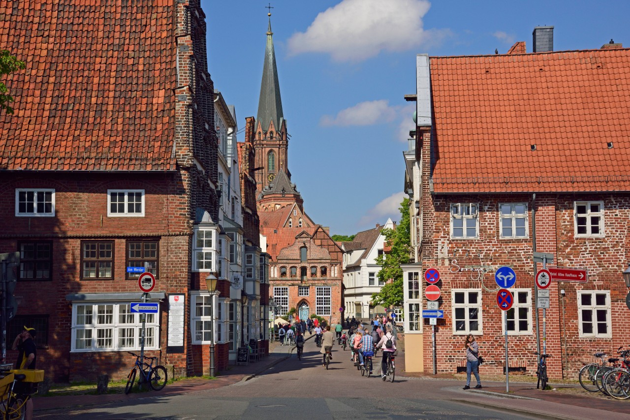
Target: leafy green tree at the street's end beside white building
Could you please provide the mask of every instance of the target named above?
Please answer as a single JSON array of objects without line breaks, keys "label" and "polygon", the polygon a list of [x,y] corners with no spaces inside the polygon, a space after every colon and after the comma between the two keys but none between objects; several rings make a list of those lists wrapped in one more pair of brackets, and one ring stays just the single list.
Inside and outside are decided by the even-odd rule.
[{"label": "leafy green tree at the street's end beside white building", "polygon": [[410,223],[409,223],[409,198],[405,198],[398,208],[401,220],[394,229],[383,229],[381,234],[385,236],[386,244],[391,251],[383,253],[376,258],[376,263],[381,266],[379,280],[385,283],[381,292],[372,295],[373,305],[384,307],[399,306],[403,304],[403,269],[401,264],[409,263],[411,251]]}]

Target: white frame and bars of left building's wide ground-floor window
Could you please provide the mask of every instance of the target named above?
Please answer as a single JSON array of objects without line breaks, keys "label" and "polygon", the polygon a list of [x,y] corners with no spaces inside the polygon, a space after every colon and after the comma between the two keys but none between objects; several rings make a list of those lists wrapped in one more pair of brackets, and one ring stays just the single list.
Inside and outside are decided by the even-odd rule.
[{"label": "white frame and bars of left building's wide ground-floor window", "polygon": [[[142,334],[142,317],[141,314],[135,314],[127,311],[130,302],[73,302],[72,303],[72,332],[71,332],[71,353],[91,353],[102,351],[139,351],[140,336]],[[99,322],[98,307],[112,306],[112,322]],[[79,307],[91,307],[91,322],[86,324],[77,323],[77,312]],[[122,310],[122,307],[125,309]],[[121,322],[120,317],[131,322]],[[159,312],[157,314],[147,314],[145,327],[145,350],[159,349]],[[106,320],[105,320],[106,321]],[[134,344],[132,346],[120,346],[119,340],[124,339],[125,329],[134,329]],[[89,348],[77,348],[77,334],[83,331],[89,331],[91,334],[91,346]],[[99,331],[110,332],[107,339],[112,339],[112,346],[107,348],[99,348],[98,333]],[[147,341],[147,337],[152,338],[152,344]]]}]

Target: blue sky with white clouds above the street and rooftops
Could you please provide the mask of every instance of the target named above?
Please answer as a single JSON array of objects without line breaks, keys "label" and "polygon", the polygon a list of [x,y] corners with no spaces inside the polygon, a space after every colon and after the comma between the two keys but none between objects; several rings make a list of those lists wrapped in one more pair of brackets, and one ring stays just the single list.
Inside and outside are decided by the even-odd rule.
[{"label": "blue sky with white clouds above the street and rooftops", "polygon": [[[269,1],[201,0],[215,88],[256,116]],[[289,169],[314,222],[354,234],[399,219],[416,54],[505,54],[554,26],[554,50],[630,47],[630,1],[276,0]],[[243,135],[239,135],[243,141]]]}]

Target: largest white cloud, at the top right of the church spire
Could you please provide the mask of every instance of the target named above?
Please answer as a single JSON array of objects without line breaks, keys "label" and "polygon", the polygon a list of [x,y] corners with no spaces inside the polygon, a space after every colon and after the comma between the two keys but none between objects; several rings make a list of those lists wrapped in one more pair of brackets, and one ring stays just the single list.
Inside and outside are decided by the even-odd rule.
[{"label": "largest white cloud, at the top right of the church spire", "polygon": [[323,52],[332,59],[362,61],[381,51],[432,45],[444,31],[426,31],[427,0],[343,0],[316,16],[305,32],[289,39],[290,55]]}]

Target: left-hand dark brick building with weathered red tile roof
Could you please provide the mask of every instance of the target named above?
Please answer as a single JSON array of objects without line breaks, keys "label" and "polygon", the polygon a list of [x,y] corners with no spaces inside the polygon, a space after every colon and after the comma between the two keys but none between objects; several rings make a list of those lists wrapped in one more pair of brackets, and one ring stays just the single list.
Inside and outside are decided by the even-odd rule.
[{"label": "left-hand dark brick building with weathered red tile roof", "polygon": [[[9,340],[36,327],[38,367],[54,380],[125,376],[140,348],[139,274],[126,268],[144,266],[159,302],[147,353],[176,375],[207,372],[224,324],[205,282],[220,230],[199,1],[42,0],[5,13],[0,49],[26,62],[8,77],[15,114],[0,116],[0,252],[21,254]],[[229,282],[217,291],[229,295]]]}]

